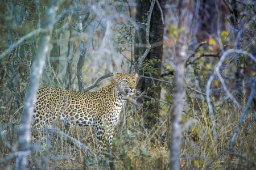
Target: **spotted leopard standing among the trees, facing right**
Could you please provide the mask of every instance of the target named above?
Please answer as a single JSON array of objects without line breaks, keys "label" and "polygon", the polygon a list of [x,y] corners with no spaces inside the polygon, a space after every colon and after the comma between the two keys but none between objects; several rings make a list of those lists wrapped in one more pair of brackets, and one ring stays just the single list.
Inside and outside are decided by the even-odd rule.
[{"label": "spotted leopard standing among the trees, facing right", "polygon": [[[57,87],[40,88],[36,95],[32,129],[52,126],[56,120],[76,126],[94,126],[99,152],[110,146],[123,104],[134,95],[138,74],[113,73],[109,86],[79,92]],[[105,138],[105,139],[104,139]]]}]

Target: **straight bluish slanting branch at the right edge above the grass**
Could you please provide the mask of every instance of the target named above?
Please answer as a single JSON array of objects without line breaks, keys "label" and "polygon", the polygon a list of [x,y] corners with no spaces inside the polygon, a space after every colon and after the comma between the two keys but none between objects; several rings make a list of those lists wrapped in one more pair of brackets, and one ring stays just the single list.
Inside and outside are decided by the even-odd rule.
[{"label": "straight bluish slanting branch at the right edge above the grass", "polygon": [[250,104],[251,104],[251,100],[253,100],[253,97],[255,95],[255,90],[256,90],[256,78],[254,78],[254,81],[253,81],[253,85],[251,86],[251,93],[250,93],[250,96],[249,96],[249,99],[246,103],[246,106],[245,106],[245,109],[243,110],[243,113],[242,113],[242,116],[238,122],[238,125],[237,125],[237,128],[236,128],[236,131],[234,132],[234,135],[232,137],[232,140],[230,142],[230,146],[229,146],[229,150],[230,151],[233,151],[234,150],[234,143],[236,141],[236,137],[237,137],[237,134],[238,134],[238,131],[239,131],[239,128],[243,122],[243,118],[245,117],[245,114],[247,112],[247,109],[250,107]]}]

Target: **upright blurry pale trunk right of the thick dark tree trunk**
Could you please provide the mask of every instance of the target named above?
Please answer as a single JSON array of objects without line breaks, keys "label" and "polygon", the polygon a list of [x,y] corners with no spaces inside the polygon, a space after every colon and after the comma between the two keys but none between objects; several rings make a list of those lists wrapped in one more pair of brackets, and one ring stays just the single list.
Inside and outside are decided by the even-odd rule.
[{"label": "upright blurry pale trunk right of the thick dark tree trunk", "polygon": [[183,96],[185,94],[185,55],[188,48],[188,1],[179,1],[178,5],[179,23],[177,30],[182,32],[177,35],[175,46],[175,79],[174,79],[174,101],[171,108],[171,142],[170,142],[170,169],[180,169],[180,143],[181,143],[181,114],[183,109]]}]

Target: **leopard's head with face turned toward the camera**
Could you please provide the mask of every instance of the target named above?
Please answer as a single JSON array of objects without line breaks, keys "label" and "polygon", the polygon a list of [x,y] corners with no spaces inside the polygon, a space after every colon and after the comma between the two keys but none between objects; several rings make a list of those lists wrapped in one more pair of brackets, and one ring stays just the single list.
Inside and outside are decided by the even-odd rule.
[{"label": "leopard's head with face turned toward the camera", "polygon": [[126,74],[114,72],[114,84],[124,95],[133,95],[136,91],[138,74]]}]

